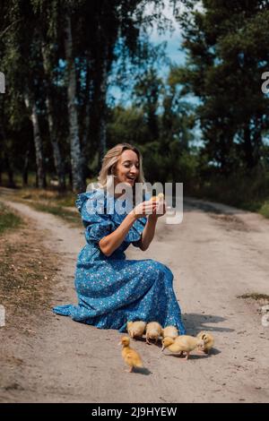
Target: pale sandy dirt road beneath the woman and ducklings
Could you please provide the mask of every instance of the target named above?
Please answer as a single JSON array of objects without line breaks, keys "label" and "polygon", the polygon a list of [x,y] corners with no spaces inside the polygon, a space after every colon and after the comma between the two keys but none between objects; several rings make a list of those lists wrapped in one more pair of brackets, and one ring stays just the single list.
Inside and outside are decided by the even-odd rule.
[{"label": "pale sandy dirt road beneath the woman and ducklings", "polygon": [[[52,301],[76,303],[74,267],[84,245],[82,229],[56,217],[6,201],[35,223],[60,256]],[[212,331],[209,357],[189,361],[163,355],[137,341],[147,374],[124,372],[117,331],[98,330],[53,314],[48,306],[27,346],[13,339],[15,389],[2,402],[269,402],[269,326],[259,305],[239,299],[269,295],[269,221],[219,204],[187,199],[180,225],[159,220],[146,252],[130,247],[127,258],[169,265],[189,334]],[[3,368],[3,367],[2,367]],[[15,371],[15,373],[14,373]]]}]

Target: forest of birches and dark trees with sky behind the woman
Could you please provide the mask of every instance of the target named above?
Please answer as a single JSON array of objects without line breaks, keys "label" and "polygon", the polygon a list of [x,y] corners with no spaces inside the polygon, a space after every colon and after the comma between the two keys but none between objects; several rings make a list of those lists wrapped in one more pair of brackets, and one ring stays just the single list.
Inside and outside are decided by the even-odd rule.
[{"label": "forest of birches and dark trees with sky behind the woman", "polygon": [[[147,181],[269,217],[268,1],[1,0],[0,15],[0,185],[74,204],[130,142]],[[151,38],[173,30],[180,64]]]}]

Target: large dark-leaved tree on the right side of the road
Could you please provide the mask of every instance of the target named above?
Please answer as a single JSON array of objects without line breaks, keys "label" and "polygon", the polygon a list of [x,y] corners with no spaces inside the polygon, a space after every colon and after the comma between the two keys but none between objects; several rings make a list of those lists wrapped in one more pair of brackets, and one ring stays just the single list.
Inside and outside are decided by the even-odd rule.
[{"label": "large dark-leaved tree on the right side of the road", "polygon": [[204,153],[225,174],[238,166],[254,168],[269,125],[269,99],[261,91],[269,61],[269,2],[204,0],[199,8],[193,0],[183,3],[187,66],[178,69],[178,82],[200,99]]}]

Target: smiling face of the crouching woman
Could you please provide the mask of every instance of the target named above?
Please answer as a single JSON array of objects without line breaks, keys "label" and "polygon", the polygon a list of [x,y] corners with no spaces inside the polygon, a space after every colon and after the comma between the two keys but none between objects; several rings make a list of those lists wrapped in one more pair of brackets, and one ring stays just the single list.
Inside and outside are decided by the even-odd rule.
[{"label": "smiling face of the crouching woman", "polygon": [[115,185],[118,183],[128,183],[133,187],[139,175],[139,159],[134,150],[123,151],[117,161],[115,173]]}]

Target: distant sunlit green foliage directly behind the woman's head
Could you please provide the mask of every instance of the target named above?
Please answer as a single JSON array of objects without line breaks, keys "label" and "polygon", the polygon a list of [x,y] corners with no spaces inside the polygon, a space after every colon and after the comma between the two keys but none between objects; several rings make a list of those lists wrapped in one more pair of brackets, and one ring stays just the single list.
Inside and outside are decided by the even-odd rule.
[{"label": "distant sunlit green foliage directly behind the woman's head", "polygon": [[132,106],[111,108],[109,114],[108,146],[129,142],[140,147],[145,178],[152,183],[190,183],[197,169],[193,108],[181,100],[172,73],[173,68],[165,83],[154,66],[149,68],[134,84]]}]

